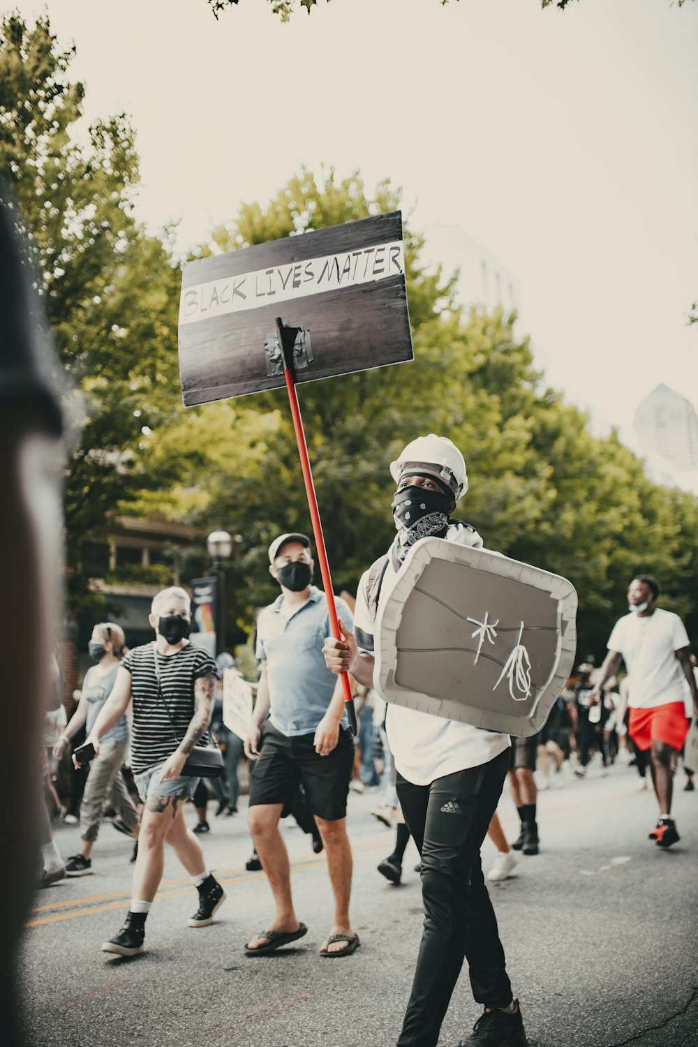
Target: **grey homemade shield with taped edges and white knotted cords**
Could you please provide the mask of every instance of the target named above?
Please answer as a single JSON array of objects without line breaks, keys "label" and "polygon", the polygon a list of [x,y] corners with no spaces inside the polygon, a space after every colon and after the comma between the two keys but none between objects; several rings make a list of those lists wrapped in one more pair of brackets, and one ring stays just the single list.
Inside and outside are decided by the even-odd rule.
[{"label": "grey homemade shield with taped edges and white knotted cords", "polygon": [[571,671],[576,614],[559,575],[424,538],[381,592],[374,684],[386,701],[526,737]]}]

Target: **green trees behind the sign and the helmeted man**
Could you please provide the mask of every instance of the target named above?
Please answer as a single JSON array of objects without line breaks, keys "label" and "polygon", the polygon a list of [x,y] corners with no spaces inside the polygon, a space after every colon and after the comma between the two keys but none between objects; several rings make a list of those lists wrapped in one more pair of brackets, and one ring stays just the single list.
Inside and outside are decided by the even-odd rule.
[{"label": "green trees behind the sign and the helmeted man", "polygon": [[[244,204],[234,223],[213,231],[212,249],[251,246],[399,205],[400,192],[388,181],[368,195],[358,173],[337,180],[330,170],[318,180],[302,171],[267,206]],[[389,461],[408,440],[436,431],[451,437],[468,461],[471,488],[458,516],[490,548],[575,583],[585,652],[603,655],[624,610],[627,583],[640,571],[660,577],[665,605],[698,629],[696,499],[653,485],[616,435],[594,438],[586,416],[544,385],[515,317],[501,310],[464,313],[452,280],[421,266],[420,238],[409,229],[405,238],[414,360],[303,383],[298,391],[335,587],[354,591],[391,540]],[[203,432],[205,413],[220,406],[202,409],[192,439]],[[310,533],[310,520],[286,391],[229,407],[250,439],[256,415],[260,442],[239,462],[226,454],[226,432],[215,461],[199,463],[206,493],[195,517],[243,536],[235,584],[249,626],[252,608],[275,595],[269,541],[282,530]],[[225,432],[215,422],[209,430]],[[181,444],[181,435],[177,439]],[[209,440],[198,440],[204,456]],[[167,445],[163,432],[165,456]],[[181,465],[187,475],[184,459]],[[188,475],[195,490],[197,477]]]}]

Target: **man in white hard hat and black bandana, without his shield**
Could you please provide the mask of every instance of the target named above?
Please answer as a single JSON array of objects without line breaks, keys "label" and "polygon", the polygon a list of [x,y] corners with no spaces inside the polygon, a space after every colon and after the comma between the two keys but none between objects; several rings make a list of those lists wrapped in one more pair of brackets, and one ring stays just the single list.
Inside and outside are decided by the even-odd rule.
[{"label": "man in white hard hat and black bandana, without his shield", "polygon": [[[450,440],[433,433],[418,438],[390,464],[390,473],[398,488],[391,506],[397,536],[387,555],[361,577],[354,634],[342,628],[342,640],[329,637],[323,648],[333,672],[351,672],[365,687],[373,686],[380,586],[392,583],[414,542],[435,537],[482,548],[474,528],[451,520],[468,477]],[[425,911],[398,1047],[435,1047],[464,958],[473,996],[485,1010],[459,1047],[523,1045],[523,1021],[480,862],[506,777],[509,735],[397,705],[388,707],[386,729],[398,796],[422,855]]]}]

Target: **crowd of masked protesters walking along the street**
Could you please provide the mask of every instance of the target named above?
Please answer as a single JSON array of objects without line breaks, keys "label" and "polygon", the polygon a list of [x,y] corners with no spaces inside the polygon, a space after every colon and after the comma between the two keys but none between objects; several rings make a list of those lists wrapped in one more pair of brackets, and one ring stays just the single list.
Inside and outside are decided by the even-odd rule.
[{"label": "crowd of masked protesters walking along the street", "polygon": [[[525,1043],[523,1020],[486,879],[505,879],[519,861],[528,862],[544,849],[539,790],[563,787],[572,774],[583,781],[596,758],[602,774],[616,760],[634,762],[640,787],[649,770],[659,808],[649,837],[658,848],[679,840],[672,794],[690,720],[698,714],[695,659],[680,619],[655,604],[656,580],[638,575],[603,665],[578,665],[537,734],[510,738],[387,706],[374,689],[381,586],[392,583],[420,538],[483,545],[472,527],[451,519],[468,477],[463,455],[450,441],[420,438],[390,470],[397,484],[396,538],[362,576],[356,601],[348,594],[336,600],[340,639],[331,634],[328,601],[313,584],[310,539],[285,533],[269,547],[269,571],[280,592],[258,616],[256,701],[244,738],[223,718],[221,678],[234,662],[227,653],[213,660],[188,640],[190,603],[184,589],[170,587],[155,596],[154,639],[133,650],[119,625],[95,624],[89,642],[95,664],[85,675],[76,708],[67,722],[61,722],[60,711],[46,718],[40,886],[93,871],[94,847],[109,809],[112,825],[133,840],[133,883],[122,926],[103,951],[134,956],[144,950],[165,844],[197,894],[188,926],[208,927],[226,895],[200,841],[210,831],[211,799],[215,817],[238,812],[244,754],[253,845],[247,867],[264,870],[273,899],[273,911],[249,937],[245,952],[262,956],[307,933],[294,909],[289,855],[279,832],[280,819],[293,814],[312,836],[313,849],[327,853],[334,916],[320,956],[346,958],[361,944],[350,914],[347,796],[352,787],[371,789],[371,816],[396,833],[378,873],[398,885],[410,838],[420,852],[424,932],[398,1047],[436,1044],[465,959],[483,1010],[460,1047],[515,1047]],[[626,675],[618,682],[622,663]],[[339,680],[344,672],[353,681],[360,714],[354,740]],[[74,796],[68,811],[51,780],[51,760],[66,759],[69,752],[77,794],[84,785],[78,816]],[[694,768],[684,763],[684,788],[691,790]],[[506,780],[520,821],[511,842],[498,817],[500,804],[510,802],[500,799]],[[193,829],[184,819],[189,801],[197,811]],[[81,846],[64,861],[52,828],[76,817]],[[480,848],[488,834],[497,854],[483,872]]]}]

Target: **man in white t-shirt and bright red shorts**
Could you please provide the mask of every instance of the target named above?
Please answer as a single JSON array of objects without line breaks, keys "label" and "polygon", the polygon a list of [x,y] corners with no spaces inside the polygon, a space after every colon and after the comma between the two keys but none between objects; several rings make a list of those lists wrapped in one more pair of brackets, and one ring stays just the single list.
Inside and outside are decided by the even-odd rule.
[{"label": "man in white t-shirt and bright red shorts", "polygon": [[678,615],[655,607],[658,595],[659,585],[651,575],[638,575],[631,581],[629,614],[613,626],[608,654],[589,700],[594,704],[601,699],[604,684],[623,659],[630,683],[628,734],[640,752],[650,750],[650,770],[659,804],[659,821],[650,839],[658,847],[671,847],[679,839],[671,817],[673,768],[689,732],[684,681],[689,684],[695,715],[698,715],[698,690],[683,622]]}]

